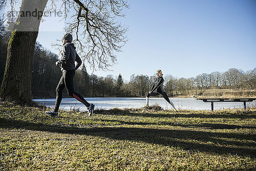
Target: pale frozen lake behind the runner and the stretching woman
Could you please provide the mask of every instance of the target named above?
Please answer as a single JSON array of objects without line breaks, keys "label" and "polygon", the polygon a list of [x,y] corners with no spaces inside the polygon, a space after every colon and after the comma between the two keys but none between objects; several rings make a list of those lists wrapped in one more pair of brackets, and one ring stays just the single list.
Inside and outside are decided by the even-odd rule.
[{"label": "pale frozen lake behind the runner and the stretching woman", "polygon": [[[34,101],[44,104],[47,107],[54,107],[55,99],[33,99]],[[113,109],[114,107],[122,108],[140,108],[145,106],[145,98],[85,98],[89,103],[95,104],[95,109]],[[170,98],[175,104],[176,109],[187,109],[187,110],[210,110],[211,103],[205,103],[201,100],[195,100],[190,98]],[[149,105],[157,103],[164,109],[172,109],[172,106],[165,101],[163,98],[150,98]],[[247,102],[246,106],[255,106],[255,101]],[[64,98],[61,101],[60,109],[73,110],[78,109],[80,111],[87,111],[87,108],[81,102],[74,98]],[[225,108],[243,108],[243,102],[216,102],[214,103],[215,109]]]}]

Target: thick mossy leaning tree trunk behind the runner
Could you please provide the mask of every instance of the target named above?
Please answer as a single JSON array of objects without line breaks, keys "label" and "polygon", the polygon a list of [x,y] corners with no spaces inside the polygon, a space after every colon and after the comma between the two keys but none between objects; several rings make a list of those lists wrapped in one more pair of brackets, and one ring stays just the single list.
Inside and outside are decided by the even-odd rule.
[{"label": "thick mossy leaning tree trunk behind the runner", "polygon": [[[47,1],[22,1],[7,49],[6,68],[0,90],[1,99],[31,101],[32,59],[41,21],[38,14],[44,12]],[[37,11],[37,16],[36,13],[32,14],[34,11]],[[25,16],[22,16],[22,12]],[[26,12],[30,12],[30,16]]]}]

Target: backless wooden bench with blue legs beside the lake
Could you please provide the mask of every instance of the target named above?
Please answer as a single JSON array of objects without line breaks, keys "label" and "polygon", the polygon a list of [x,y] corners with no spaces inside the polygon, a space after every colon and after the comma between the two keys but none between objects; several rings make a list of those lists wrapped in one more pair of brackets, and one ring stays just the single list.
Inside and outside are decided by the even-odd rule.
[{"label": "backless wooden bench with blue legs beside the lake", "polygon": [[246,102],[252,102],[256,98],[241,98],[241,99],[212,99],[212,98],[196,98],[196,100],[202,100],[204,102],[211,102],[211,109],[213,111],[213,102],[244,102],[244,110],[246,108]]}]

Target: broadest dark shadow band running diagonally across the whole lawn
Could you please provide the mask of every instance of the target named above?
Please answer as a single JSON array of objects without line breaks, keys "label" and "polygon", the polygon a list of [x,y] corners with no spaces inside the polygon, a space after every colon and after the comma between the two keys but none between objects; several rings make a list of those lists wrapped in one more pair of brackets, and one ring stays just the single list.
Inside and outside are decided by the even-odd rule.
[{"label": "broadest dark shadow band running diagonally across the whole lawn", "polygon": [[[58,127],[44,126],[42,124],[3,118],[0,118],[0,128],[101,136],[115,140],[141,141],[152,144],[167,145],[183,148],[185,150],[204,151],[217,154],[233,154],[256,158],[256,150],[248,148],[248,146],[256,148],[256,137],[254,134],[245,135],[239,133],[211,133],[195,130],[166,130],[151,128]],[[243,140],[250,140],[251,143],[241,142]]]}]

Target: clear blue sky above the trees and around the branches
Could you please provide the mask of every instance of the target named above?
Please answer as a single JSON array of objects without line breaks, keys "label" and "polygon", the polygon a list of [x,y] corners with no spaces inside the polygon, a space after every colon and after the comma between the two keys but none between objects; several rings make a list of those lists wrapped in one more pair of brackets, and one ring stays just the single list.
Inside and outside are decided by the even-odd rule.
[{"label": "clear blue sky above the trees and around the branches", "polygon": [[[129,0],[126,18],[128,42],[117,53],[113,71],[96,71],[98,76],[163,74],[179,78],[201,73],[244,71],[256,67],[256,0]],[[38,39],[50,45],[64,31],[59,17],[41,23]],[[49,21],[47,21],[49,20]],[[48,30],[48,31],[46,31]],[[89,66],[89,65],[87,65]],[[87,67],[87,71],[92,71]]]}]

